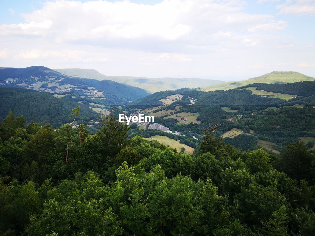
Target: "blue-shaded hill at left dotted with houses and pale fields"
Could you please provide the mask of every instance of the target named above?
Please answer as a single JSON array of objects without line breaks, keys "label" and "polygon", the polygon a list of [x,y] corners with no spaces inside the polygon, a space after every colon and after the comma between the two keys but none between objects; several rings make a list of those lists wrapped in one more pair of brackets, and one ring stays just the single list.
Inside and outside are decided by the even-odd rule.
[{"label": "blue-shaded hill at left dotted with houses and pale fields", "polygon": [[[71,94],[103,98],[124,104],[149,95],[146,90],[115,81],[98,81],[61,74],[43,66],[27,68],[1,68],[0,87],[21,87],[49,93]],[[112,105],[112,104],[108,104]]]}]

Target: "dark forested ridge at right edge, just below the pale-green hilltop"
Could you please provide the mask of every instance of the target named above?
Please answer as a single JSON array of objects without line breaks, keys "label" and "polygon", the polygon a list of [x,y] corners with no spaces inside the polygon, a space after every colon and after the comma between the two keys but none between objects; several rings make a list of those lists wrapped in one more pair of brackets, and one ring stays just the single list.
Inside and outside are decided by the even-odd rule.
[{"label": "dark forested ridge at right edge, just below the pale-green hilltop", "polygon": [[241,88],[256,87],[257,90],[265,90],[272,93],[295,94],[298,96],[312,96],[315,94],[315,80],[289,84],[261,84],[253,83]]}]

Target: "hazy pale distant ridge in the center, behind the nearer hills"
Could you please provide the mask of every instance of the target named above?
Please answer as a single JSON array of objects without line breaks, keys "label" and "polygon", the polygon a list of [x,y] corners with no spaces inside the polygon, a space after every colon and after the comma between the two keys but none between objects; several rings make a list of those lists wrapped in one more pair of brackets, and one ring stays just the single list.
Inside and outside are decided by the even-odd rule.
[{"label": "hazy pale distant ridge in the center, behind the nearer hills", "polygon": [[112,80],[118,83],[123,83],[135,87],[142,88],[149,93],[155,93],[165,90],[176,90],[182,87],[196,88],[201,86],[209,86],[219,84],[223,81],[208,80],[199,78],[146,78],[146,77],[132,77],[132,76],[106,76],[99,73],[97,70],[88,69],[54,69],[62,74],[89,78],[96,80]]}]

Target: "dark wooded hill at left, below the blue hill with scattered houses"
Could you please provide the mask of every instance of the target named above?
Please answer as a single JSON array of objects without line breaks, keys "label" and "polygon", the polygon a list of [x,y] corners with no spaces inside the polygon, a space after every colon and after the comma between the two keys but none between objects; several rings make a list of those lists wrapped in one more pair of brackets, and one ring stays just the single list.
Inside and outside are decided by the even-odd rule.
[{"label": "dark wooded hill at left, below the blue hill with scattered houses", "polygon": [[[48,122],[54,127],[70,123],[72,109],[79,104],[66,97],[55,98],[45,92],[22,88],[0,88],[0,122],[8,115],[10,108],[14,115],[24,115],[27,122]],[[99,114],[80,104],[79,121],[98,119]]]}]

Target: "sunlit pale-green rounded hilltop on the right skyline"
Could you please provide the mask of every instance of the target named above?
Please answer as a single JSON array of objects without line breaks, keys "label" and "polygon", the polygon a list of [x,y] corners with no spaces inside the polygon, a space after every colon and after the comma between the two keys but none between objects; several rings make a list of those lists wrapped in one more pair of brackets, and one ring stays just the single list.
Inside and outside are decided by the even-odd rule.
[{"label": "sunlit pale-green rounded hilltop on the right skyline", "polygon": [[312,80],[315,80],[315,78],[294,71],[273,71],[262,76],[250,78],[248,80],[230,81],[216,85],[203,86],[201,87],[201,90],[202,91],[228,90],[253,83],[284,84]]}]

